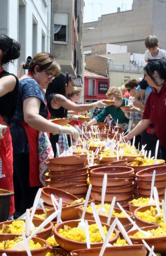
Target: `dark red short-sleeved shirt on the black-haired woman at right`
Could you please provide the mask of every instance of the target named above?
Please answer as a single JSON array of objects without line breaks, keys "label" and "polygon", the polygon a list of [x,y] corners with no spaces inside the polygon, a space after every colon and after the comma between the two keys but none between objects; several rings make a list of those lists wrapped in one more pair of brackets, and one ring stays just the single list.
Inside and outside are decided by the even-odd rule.
[{"label": "dark red short-sleeved shirt on the black-haired woman at right", "polygon": [[166,80],[159,93],[156,89],[150,93],[143,112],[143,119],[150,119],[154,124],[160,145],[166,148]]}]

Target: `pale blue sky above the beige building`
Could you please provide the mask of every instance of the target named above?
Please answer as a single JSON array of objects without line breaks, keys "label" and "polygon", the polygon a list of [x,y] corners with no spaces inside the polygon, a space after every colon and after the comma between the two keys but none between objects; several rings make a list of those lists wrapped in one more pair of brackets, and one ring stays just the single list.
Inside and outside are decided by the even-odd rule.
[{"label": "pale blue sky above the beige building", "polygon": [[[117,7],[120,11],[131,10],[133,0],[84,0],[84,23],[93,22],[101,17],[101,13],[109,14],[117,12]],[[122,10],[123,6],[123,10]]]}]

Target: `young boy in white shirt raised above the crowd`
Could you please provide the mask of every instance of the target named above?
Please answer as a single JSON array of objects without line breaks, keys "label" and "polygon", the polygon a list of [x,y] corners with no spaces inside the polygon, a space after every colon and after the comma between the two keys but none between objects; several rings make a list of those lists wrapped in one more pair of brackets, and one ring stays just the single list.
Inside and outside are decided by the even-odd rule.
[{"label": "young boy in white shirt raised above the crowd", "polygon": [[145,39],[145,46],[148,49],[144,54],[147,63],[151,60],[166,59],[166,51],[158,48],[159,42],[155,35],[149,35]]}]

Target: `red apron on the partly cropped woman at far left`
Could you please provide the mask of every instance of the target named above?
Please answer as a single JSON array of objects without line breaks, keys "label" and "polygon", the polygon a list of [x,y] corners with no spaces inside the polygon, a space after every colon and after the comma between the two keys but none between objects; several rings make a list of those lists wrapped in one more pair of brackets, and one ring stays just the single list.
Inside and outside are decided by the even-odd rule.
[{"label": "red apron on the partly cropped woman at far left", "polygon": [[[0,179],[0,188],[14,191],[12,138],[10,134],[9,125],[5,124],[1,116],[0,116],[0,124],[7,126],[7,129],[3,135],[4,138],[0,139],[0,157],[2,159],[2,173],[5,174],[5,177]],[[9,215],[12,215],[14,212],[15,212],[14,196],[11,196]]]}]

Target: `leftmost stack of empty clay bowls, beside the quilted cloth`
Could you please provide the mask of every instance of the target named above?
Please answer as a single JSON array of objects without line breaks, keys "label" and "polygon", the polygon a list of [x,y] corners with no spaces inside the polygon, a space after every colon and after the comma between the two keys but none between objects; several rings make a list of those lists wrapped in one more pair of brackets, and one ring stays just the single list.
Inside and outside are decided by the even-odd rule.
[{"label": "leftmost stack of empty clay bowls, beside the quilted cloth", "polygon": [[50,159],[47,163],[49,174],[46,176],[46,185],[84,197],[88,190],[86,161],[86,154]]}]

